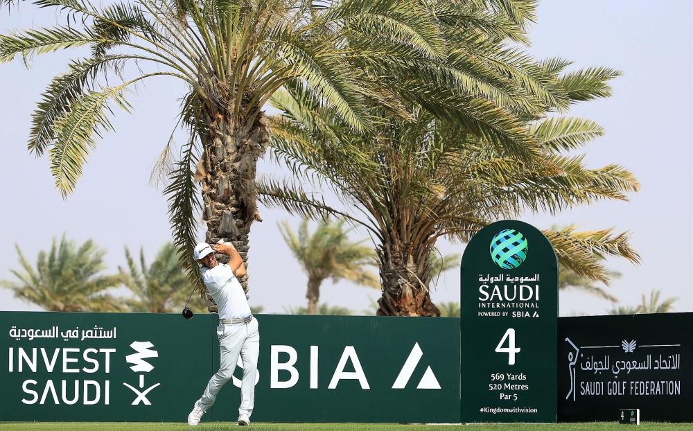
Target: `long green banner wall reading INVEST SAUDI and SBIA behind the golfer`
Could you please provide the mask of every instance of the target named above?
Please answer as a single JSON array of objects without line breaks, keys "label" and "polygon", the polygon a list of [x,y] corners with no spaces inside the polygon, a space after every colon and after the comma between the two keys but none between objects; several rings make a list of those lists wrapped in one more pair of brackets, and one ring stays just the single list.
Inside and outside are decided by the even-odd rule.
[{"label": "long green banner wall reading INVEST SAUDI and SBIA behind the golfer", "polygon": [[[457,319],[257,319],[253,421],[459,421]],[[184,423],[218,369],[217,324],[217,315],[1,312],[0,421]],[[203,423],[236,421],[242,372]]]}]

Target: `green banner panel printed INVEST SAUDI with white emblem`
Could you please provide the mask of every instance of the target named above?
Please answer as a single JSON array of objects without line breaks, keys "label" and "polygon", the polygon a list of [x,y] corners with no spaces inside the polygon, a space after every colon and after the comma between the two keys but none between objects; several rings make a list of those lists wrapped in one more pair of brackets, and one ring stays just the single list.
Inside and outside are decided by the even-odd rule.
[{"label": "green banner panel printed INVEST SAUDI with white emblem", "polygon": [[0,313],[0,421],[184,421],[211,317]]}]

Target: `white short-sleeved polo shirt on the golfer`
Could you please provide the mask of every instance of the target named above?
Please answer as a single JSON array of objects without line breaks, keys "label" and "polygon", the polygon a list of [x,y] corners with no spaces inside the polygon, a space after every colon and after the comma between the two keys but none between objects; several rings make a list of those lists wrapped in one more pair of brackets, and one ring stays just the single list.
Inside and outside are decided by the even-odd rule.
[{"label": "white short-sleeved polo shirt on the golfer", "polygon": [[229,265],[218,263],[211,269],[202,267],[200,272],[204,285],[219,307],[220,319],[243,319],[250,315],[245,292]]}]

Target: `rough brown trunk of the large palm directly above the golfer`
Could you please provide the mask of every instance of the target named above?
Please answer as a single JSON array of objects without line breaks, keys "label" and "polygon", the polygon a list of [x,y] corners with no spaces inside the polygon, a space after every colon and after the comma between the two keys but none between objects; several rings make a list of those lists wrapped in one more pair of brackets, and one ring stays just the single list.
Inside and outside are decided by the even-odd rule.
[{"label": "rough brown trunk of the large palm directly above the golfer", "polygon": [[[207,243],[231,241],[248,267],[249,231],[261,222],[256,202],[256,166],[269,143],[267,118],[260,114],[252,123],[234,124],[228,116],[209,116],[209,138],[204,141],[195,178],[202,183],[202,217],[207,222]],[[218,261],[229,258],[217,255]],[[239,279],[248,292],[248,276]],[[208,295],[208,299],[209,295]],[[210,311],[216,304],[210,302]]]}]

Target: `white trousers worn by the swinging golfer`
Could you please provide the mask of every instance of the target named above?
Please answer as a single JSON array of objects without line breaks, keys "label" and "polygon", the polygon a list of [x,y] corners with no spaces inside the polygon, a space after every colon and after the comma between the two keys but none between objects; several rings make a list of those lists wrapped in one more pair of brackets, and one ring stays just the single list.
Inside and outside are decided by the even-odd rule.
[{"label": "white trousers worn by the swinging golfer", "polygon": [[255,398],[255,374],[260,354],[260,333],[255,317],[247,324],[222,325],[217,328],[219,337],[219,371],[214,374],[198,401],[205,411],[214,404],[219,389],[234,376],[238,355],[243,360],[243,381],[240,385],[238,414],[250,416]]}]

